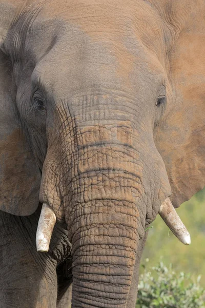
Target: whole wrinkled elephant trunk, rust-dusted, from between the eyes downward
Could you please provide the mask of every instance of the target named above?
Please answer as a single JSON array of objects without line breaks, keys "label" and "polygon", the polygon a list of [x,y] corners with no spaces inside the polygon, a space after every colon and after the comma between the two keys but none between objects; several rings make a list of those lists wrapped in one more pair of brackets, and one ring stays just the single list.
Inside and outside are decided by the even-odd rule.
[{"label": "whole wrinkled elephant trunk, rust-dusted, from between the eyes downward", "polygon": [[[67,223],[72,308],[126,308],[139,239],[146,219],[156,215],[153,196],[160,196],[153,173],[164,183],[154,142],[145,129],[140,137],[141,122],[134,127],[138,118],[120,100],[72,99],[59,106],[50,134],[41,196]],[[136,102],[130,105],[136,109]]]}]

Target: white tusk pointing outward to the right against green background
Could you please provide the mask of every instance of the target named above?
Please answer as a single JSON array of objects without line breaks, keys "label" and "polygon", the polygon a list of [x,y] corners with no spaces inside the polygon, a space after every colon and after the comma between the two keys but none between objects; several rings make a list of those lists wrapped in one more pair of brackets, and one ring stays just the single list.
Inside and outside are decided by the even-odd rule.
[{"label": "white tusk pointing outward to the right against green background", "polygon": [[159,215],[168,225],[173,234],[185,245],[191,244],[190,234],[176,213],[170,198],[167,198],[160,206]]}]

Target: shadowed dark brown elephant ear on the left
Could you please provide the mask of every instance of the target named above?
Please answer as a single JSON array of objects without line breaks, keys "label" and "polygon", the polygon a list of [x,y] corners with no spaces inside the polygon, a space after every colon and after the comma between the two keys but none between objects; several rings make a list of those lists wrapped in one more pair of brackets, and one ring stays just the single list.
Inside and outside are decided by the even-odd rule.
[{"label": "shadowed dark brown elephant ear on the left", "polygon": [[0,4],[0,209],[30,215],[38,206],[40,171],[18,120],[12,64],[4,53],[15,13],[9,1]]}]

